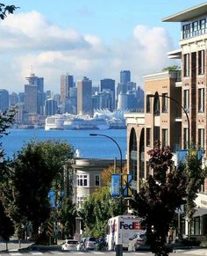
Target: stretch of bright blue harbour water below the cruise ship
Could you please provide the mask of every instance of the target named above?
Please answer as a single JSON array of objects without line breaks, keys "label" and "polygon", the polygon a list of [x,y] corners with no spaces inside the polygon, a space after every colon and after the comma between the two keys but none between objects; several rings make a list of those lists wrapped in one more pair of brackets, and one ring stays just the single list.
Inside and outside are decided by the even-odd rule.
[{"label": "stretch of bright blue harbour water below the cruise ship", "polygon": [[1,138],[6,157],[12,157],[24,143],[30,140],[46,141],[55,139],[66,141],[75,150],[81,151],[81,157],[89,158],[119,158],[120,153],[116,143],[103,136],[90,136],[91,133],[111,136],[119,145],[123,158],[126,154],[126,129],[106,130],[51,130],[42,129],[9,129],[9,135]]}]

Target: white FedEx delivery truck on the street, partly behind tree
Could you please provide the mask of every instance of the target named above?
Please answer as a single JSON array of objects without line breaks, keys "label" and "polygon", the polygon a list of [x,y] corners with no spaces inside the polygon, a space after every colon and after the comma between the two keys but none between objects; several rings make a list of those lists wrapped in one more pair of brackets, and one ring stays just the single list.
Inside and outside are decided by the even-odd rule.
[{"label": "white FedEx delivery truck on the street, partly behind tree", "polygon": [[116,245],[128,248],[130,238],[141,230],[137,216],[115,216],[107,223],[106,243],[108,250],[115,250]]}]

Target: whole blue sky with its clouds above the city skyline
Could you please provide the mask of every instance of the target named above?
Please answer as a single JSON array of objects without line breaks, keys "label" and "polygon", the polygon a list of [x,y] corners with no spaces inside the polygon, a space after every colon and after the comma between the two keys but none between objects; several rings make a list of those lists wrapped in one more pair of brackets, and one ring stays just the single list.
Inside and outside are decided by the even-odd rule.
[{"label": "whole blue sky with its clouds above the city skyline", "polygon": [[0,89],[24,91],[32,72],[44,77],[45,91],[60,93],[62,74],[119,82],[131,70],[132,82],[169,65],[179,48],[180,23],[162,22],[199,0],[0,0],[18,10],[0,20]]}]

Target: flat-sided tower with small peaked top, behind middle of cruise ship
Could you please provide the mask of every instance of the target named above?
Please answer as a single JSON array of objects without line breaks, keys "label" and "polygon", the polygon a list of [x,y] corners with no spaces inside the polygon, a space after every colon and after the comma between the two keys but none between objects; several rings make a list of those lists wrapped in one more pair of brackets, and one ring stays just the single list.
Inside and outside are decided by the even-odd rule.
[{"label": "flat-sided tower with small peaked top, behind middle of cruise ship", "polygon": [[88,77],[77,82],[77,113],[92,114],[92,81]]}]

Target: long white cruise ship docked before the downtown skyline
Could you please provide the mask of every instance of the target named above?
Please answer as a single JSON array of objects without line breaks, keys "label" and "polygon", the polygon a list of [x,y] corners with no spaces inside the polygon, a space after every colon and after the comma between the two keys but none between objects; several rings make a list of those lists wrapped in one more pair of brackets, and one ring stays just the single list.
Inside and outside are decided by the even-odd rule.
[{"label": "long white cruise ship docked before the downtown skyline", "polygon": [[72,114],[54,114],[46,117],[45,130],[60,129],[109,129],[109,123],[103,118],[75,116]]}]

